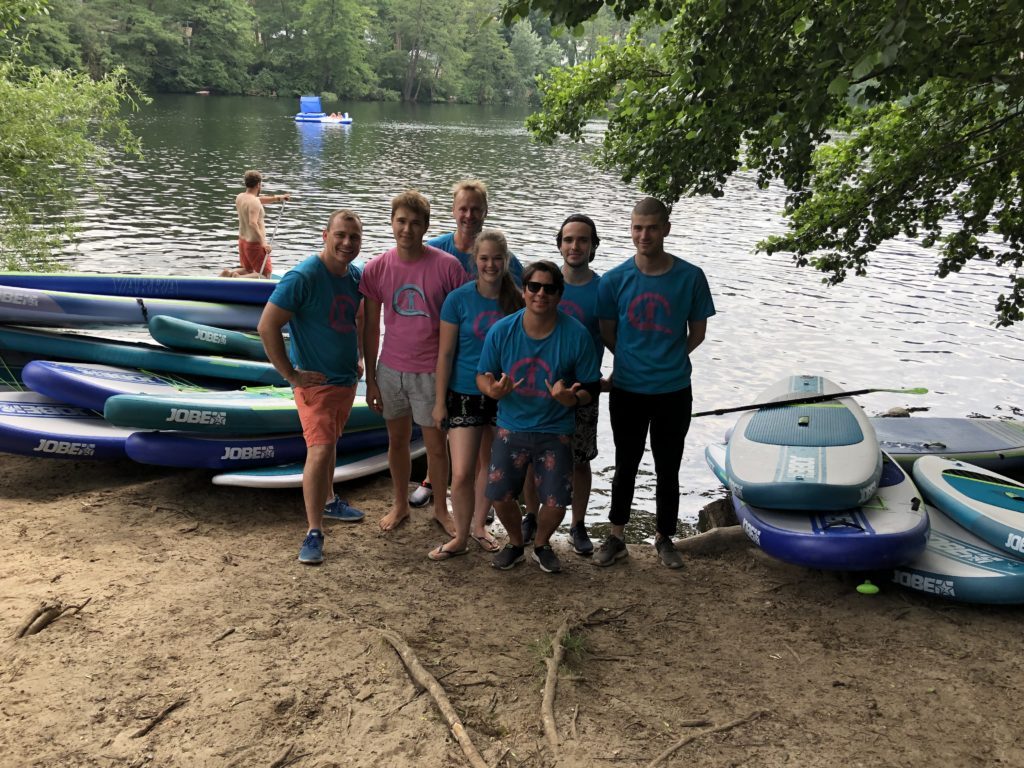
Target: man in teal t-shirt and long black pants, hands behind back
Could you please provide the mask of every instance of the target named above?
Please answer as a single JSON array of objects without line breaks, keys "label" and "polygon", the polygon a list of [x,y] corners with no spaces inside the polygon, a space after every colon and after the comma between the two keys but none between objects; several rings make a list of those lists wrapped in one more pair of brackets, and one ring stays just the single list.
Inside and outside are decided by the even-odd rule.
[{"label": "man in teal t-shirt and long black pants, hands behind back", "polygon": [[647,432],[656,476],[654,546],[662,563],[683,564],[672,537],[679,517],[679,465],[690,427],[690,352],[705,340],[715,303],[703,271],[665,250],[669,210],[654,198],[633,208],[636,255],[604,273],[598,288],[601,336],[614,354],[608,414],[615,442],[611,532],[595,565],[628,555],[626,523]]}]

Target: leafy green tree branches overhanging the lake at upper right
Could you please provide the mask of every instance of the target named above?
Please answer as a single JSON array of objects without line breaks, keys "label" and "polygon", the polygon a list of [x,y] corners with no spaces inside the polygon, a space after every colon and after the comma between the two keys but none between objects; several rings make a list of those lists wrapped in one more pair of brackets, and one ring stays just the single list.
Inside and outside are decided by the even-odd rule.
[{"label": "leafy green tree branches overhanging the lake at upper right", "polygon": [[[579,24],[605,3],[509,0]],[[723,194],[729,176],[786,187],[790,252],[842,282],[884,241],[938,246],[938,274],[971,259],[1008,269],[996,325],[1024,318],[1022,0],[608,0],[632,17],[542,85],[545,140],[583,139],[608,115],[597,161],[668,202]],[[646,42],[652,30],[656,43]]]}]

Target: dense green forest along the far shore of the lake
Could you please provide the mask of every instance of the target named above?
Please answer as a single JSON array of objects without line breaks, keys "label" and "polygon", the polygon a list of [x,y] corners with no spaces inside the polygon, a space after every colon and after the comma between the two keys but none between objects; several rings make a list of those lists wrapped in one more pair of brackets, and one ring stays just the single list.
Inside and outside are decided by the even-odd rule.
[{"label": "dense green forest along the far shore of the lake", "polygon": [[626,29],[608,11],[573,33],[506,26],[493,0],[50,0],[13,34],[26,65],[123,67],[146,93],[529,104],[537,75]]}]

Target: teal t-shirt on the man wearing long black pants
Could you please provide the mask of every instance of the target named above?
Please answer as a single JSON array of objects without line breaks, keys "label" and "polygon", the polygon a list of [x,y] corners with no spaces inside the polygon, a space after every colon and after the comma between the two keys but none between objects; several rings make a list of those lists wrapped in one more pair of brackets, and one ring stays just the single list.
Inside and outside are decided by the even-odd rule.
[{"label": "teal t-shirt on the man wearing long black pants", "polygon": [[690,385],[686,324],[715,314],[715,302],[699,267],[673,256],[669,271],[651,276],[631,257],[601,276],[597,312],[617,323],[614,386],[665,394]]}]

